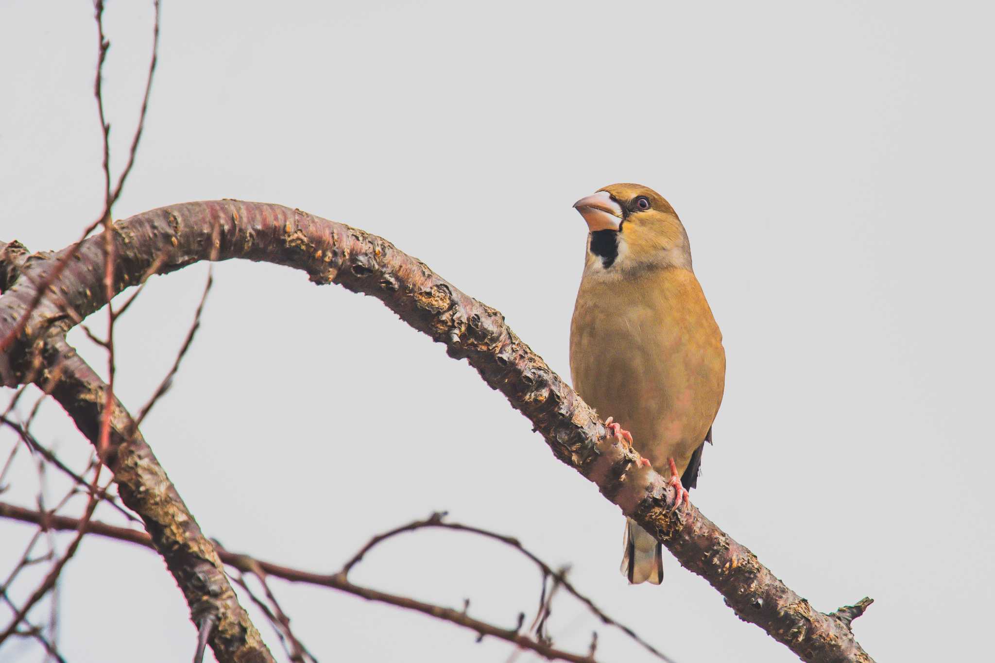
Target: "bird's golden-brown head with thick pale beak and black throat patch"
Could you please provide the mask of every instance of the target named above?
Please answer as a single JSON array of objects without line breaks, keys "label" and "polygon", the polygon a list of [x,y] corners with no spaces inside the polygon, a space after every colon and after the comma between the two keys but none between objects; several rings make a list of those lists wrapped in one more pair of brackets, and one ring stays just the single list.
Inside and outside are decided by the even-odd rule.
[{"label": "bird's golden-brown head with thick pale beak and black throat patch", "polygon": [[590,230],[586,270],[626,275],[653,267],[691,269],[688,233],[653,189],[612,184],[573,206]]}]

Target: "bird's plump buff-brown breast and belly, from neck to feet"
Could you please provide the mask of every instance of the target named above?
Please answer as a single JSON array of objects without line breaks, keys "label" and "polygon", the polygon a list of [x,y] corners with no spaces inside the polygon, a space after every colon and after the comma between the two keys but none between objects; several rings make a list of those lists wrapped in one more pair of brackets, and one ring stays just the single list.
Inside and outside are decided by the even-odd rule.
[{"label": "bird's plump buff-brown breast and belly, from neck to feet", "polygon": [[658,469],[684,471],[721,403],[721,334],[695,275],[581,282],[570,326],[574,388],[602,417],[629,429]]}]

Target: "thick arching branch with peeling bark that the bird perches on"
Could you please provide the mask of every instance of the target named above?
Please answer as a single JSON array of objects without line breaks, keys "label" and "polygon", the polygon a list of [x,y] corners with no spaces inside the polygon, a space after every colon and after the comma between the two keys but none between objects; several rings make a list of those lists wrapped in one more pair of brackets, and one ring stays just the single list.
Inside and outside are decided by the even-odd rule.
[{"label": "thick arching branch with peeling bark that the bird perches on", "polygon": [[[168,251],[160,272],[212,256],[241,257],[294,266],[316,283],[335,282],[377,297],[412,327],[444,343],[450,356],[466,358],[532,421],[557,458],[708,580],[741,619],[757,624],[804,661],[872,660],[845,619],[814,610],[693,505],[673,513],[674,489],[666,479],[640,467],[633,451],[606,438],[604,422],[518,339],[497,310],[389,242],[299,210],[240,201],[160,208],[115,223],[113,233],[114,291],[137,282],[155,256]],[[87,315],[105,303],[100,242],[100,237],[84,241],[53,279],[56,296],[30,312],[15,347],[7,351],[15,371],[25,370],[24,348],[44,330],[73,325],[62,313],[66,304]],[[36,294],[31,283],[45,282],[64,253],[27,264],[33,277],[20,279],[0,298],[0,338],[29,310]]]}]

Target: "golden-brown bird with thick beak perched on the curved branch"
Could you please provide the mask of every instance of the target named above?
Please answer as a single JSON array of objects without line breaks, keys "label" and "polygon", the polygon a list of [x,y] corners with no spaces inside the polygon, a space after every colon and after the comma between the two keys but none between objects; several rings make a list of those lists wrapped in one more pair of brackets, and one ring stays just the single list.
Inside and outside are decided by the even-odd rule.
[{"label": "golden-brown bird with thick beak perched on the curved branch", "polygon": [[[612,184],[573,207],[587,222],[570,321],[574,390],[641,463],[670,470],[675,509],[690,504],[725,388],[722,334],[692,269],[691,244],[653,189]],[[624,426],[624,427],[623,427]],[[622,574],[664,579],[663,550],[626,521]]]}]

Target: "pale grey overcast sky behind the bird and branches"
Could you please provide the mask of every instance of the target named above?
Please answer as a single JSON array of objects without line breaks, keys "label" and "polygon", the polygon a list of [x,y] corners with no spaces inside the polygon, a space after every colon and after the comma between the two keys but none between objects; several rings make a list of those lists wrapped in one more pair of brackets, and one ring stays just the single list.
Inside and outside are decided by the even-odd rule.
[{"label": "pale grey overcast sky behind the bird and branches", "polygon": [[[85,0],[0,3],[0,240],[61,249],[100,214],[92,14]],[[115,171],[151,18],[151,2],[107,3]],[[358,226],[497,307],[568,378],[586,233],[570,206],[613,182],[653,187],[688,229],[728,358],[692,500],[817,608],[873,596],[855,624],[877,660],[978,660],[995,599],[993,18],[982,2],[163,0],[146,131],[114,216],[241,198]],[[120,322],[116,393],[132,412],[205,275],[153,278]],[[268,264],[222,263],[215,278],[143,424],[208,536],[332,572],[372,534],[446,509],[572,565],[679,663],[795,660],[669,555],[663,586],[628,586],[618,508],[376,300]],[[55,404],[36,432],[85,462]],[[3,457],[15,443],[0,431]],[[357,466],[365,445],[379,466]],[[32,505],[22,461],[2,499]],[[32,532],[0,523],[0,570]],[[194,629],[157,556],[91,538],[63,578],[70,661],[189,658]],[[449,533],[388,544],[354,580],[470,597],[474,616],[508,626],[538,592],[509,551]],[[274,586],[318,660],[510,653],[421,614]],[[566,599],[550,629],[580,651],[597,629],[604,660],[648,660]]]}]

